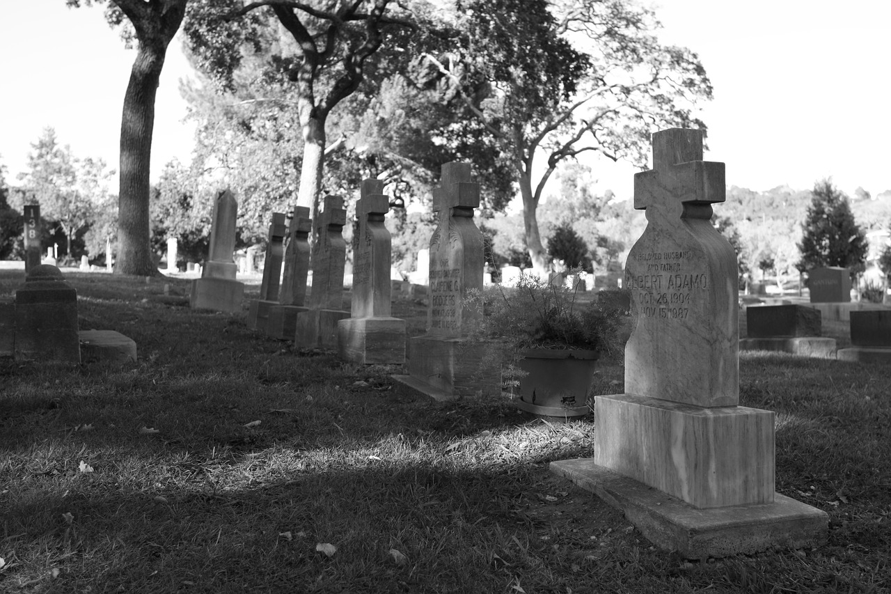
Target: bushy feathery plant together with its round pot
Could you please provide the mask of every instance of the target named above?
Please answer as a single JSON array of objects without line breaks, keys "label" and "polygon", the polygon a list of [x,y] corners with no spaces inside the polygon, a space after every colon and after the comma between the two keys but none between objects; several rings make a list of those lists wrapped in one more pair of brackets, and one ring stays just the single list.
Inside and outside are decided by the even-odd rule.
[{"label": "bushy feathery plant together with its round pot", "polygon": [[625,312],[616,300],[604,304],[579,283],[570,288],[524,274],[516,287],[495,285],[481,301],[478,333],[503,341],[503,374],[519,387],[517,406],[545,417],[587,414],[596,360],[619,348]]}]

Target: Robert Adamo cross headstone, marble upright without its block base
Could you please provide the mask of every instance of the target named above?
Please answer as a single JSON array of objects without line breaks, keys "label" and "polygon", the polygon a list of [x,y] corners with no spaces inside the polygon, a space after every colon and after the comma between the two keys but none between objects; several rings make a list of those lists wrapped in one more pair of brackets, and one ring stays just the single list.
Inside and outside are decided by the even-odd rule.
[{"label": "Robert Adamo cross headstone, marble upright without its block base", "polygon": [[625,347],[625,390],[716,407],[739,401],[736,252],[711,225],[723,163],[701,161],[699,130],[653,135],[654,169],[634,176],[647,228],[628,254],[638,318]]}]

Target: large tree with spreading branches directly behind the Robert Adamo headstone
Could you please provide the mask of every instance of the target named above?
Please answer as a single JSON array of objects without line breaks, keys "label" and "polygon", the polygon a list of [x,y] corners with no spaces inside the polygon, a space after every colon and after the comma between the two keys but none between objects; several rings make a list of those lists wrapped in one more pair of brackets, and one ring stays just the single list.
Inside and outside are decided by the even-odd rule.
[{"label": "large tree with spreading branches directly behind the Robert Adamo headstone", "polygon": [[705,128],[692,109],[711,84],[696,54],[649,33],[652,12],[621,0],[471,0],[459,11],[458,45],[428,58],[515,170],[527,249],[544,271],[536,210],[558,164],[590,151],[643,166],[652,131]]}]

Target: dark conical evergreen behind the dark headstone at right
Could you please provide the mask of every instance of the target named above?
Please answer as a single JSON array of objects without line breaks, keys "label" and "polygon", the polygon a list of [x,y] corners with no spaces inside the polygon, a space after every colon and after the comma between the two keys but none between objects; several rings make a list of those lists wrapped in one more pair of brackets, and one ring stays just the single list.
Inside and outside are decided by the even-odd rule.
[{"label": "dark conical evergreen behind the dark headstone at right", "polygon": [[802,223],[804,235],[798,250],[801,271],[825,266],[851,268],[859,274],[865,268],[866,234],[854,220],[847,196],[823,179],[813,185],[813,198]]}]

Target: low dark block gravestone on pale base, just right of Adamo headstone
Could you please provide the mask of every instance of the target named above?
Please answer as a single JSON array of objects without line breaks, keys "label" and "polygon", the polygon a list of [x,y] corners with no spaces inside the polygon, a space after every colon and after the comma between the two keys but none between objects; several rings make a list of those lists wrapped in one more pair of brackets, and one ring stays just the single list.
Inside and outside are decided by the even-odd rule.
[{"label": "low dark block gravestone on pale base, just right of Adamo headstone", "polygon": [[746,328],[748,338],[740,339],[740,351],[836,356],[835,339],[820,335],[820,312],[804,305],[751,305],[746,308]]}]

